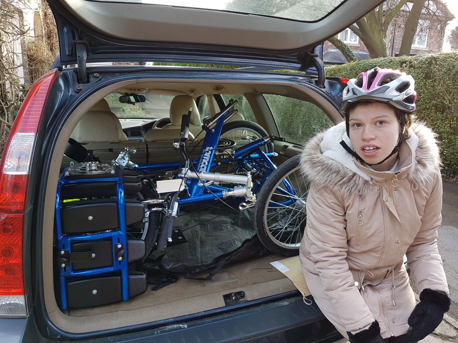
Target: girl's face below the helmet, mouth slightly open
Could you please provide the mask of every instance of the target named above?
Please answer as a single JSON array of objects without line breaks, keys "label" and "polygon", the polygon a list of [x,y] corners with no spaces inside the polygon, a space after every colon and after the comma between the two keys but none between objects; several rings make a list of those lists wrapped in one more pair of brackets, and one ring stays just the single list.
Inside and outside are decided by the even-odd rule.
[{"label": "girl's face below the helmet, mouth slightly open", "polygon": [[[350,140],[354,151],[369,164],[383,161],[398,144],[399,122],[396,112],[382,102],[365,102],[356,106],[349,117]],[[372,166],[377,171],[390,170],[398,154],[394,154],[380,165]]]}]

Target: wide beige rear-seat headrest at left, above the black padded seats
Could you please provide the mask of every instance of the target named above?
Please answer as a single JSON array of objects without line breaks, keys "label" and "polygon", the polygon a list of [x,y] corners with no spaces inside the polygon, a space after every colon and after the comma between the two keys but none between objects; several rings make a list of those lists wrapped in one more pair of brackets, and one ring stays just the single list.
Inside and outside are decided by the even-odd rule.
[{"label": "wide beige rear-seat headrest at left, above the black padded seats", "polygon": [[76,124],[71,138],[79,143],[118,143],[125,140],[119,119],[108,111],[88,111]]}]

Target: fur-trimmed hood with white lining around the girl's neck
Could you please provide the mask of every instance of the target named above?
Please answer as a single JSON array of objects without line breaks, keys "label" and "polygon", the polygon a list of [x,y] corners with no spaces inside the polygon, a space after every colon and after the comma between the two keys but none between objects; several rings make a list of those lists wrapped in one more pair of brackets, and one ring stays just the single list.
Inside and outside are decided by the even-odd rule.
[{"label": "fur-trimmed hood with white lining around the girl's neck", "polygon": [[[411,163],[400,167],[401,171],[408,173],[411,183],[422,186],[433,182],[435,175],[440,173],[441,160],[436,134],[418,122],[413,123],[409,130],[411,137],[401,145],[400,154],[410,150]],[[344,196],[366,194],[373,179],[339,144],[342,139],[353,149],[344,122],[310,139],[300,156],[301,173],[317,189],[339,190]],[[389,171],[373,172],[381,176],[387,174],[387,177],[392,175]]]}]

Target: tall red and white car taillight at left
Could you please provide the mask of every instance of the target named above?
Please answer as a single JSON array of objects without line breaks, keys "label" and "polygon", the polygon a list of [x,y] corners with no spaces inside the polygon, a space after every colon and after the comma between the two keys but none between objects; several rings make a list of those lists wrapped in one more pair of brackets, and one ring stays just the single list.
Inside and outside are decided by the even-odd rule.
[{"label": "tall red and white car taillight at left", "polygon": [[27,316],[22,266],[24,214],[35,137],[57,70],[39,78],[22,103],[0,163],[0,316]]}]

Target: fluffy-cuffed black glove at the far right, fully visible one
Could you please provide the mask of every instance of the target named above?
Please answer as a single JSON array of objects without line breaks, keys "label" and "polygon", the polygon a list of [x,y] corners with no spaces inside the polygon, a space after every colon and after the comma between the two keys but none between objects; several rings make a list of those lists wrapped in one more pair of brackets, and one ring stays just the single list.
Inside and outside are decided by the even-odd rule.
[{"label": "fluffy-cuffed black glove at the far right, fully visible one", "polygon": [[407,338],[420,341],[442,322],[444,313],[450,308],[450,298],[441,290],[425,288],[420,293],[420,302],[409,316]]}]

